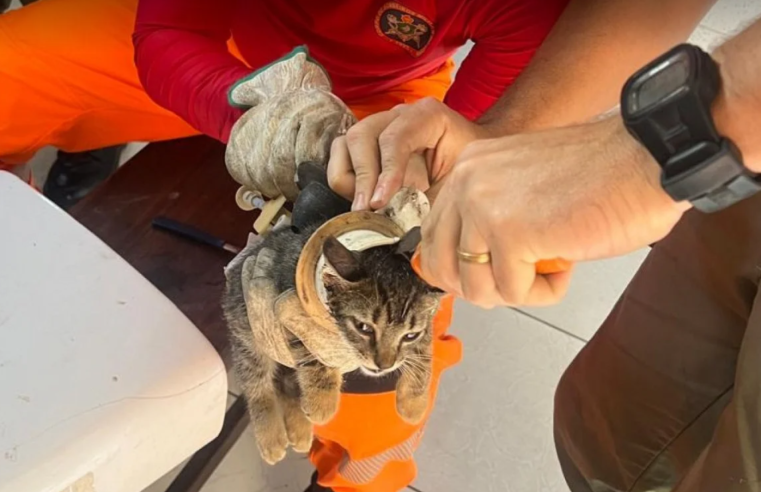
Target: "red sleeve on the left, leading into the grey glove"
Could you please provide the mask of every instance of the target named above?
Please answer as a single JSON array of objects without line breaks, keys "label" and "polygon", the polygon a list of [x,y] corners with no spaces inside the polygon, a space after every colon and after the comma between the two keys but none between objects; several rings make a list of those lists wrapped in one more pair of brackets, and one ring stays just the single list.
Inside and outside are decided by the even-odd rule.
[{"label": "red sleeve on the left, leading into the grey glove", "polygon": [[232,0],[140,0],[133,42],[148,95],[227,142],[241,111],[227,91],[251,70],[227,50]]}]

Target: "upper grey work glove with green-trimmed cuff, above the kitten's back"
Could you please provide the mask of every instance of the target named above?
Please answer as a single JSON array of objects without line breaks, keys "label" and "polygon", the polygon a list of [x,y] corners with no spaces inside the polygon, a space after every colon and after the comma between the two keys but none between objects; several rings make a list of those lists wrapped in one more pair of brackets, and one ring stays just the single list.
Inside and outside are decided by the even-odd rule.
[{"label": "upper grey work glove with green-trimmed cuff, above the kitten's back", "polygon": [[264,196],[295,200],[297,166],[327,165],[331,143],[356,121],[330,91],[327,73],[304,47],[237,82],[230,104],[246,112],[225,154],[233,179]]}]

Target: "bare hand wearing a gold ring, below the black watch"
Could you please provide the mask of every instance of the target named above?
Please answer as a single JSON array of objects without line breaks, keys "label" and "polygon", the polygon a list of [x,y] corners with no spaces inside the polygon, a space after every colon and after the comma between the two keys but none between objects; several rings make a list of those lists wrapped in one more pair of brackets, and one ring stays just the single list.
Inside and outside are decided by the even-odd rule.
[{"label": "bare hand wearing a gold ring, below the black watch", "polygon": [[[556,302],[570,272],[538,275],[538,261],[627,253],[676,224],[689,204],[659,176],[618,117],[473,143],[423,223],[423,276],[483,307]],[[458,248],[491,262],[462,261]]]}]

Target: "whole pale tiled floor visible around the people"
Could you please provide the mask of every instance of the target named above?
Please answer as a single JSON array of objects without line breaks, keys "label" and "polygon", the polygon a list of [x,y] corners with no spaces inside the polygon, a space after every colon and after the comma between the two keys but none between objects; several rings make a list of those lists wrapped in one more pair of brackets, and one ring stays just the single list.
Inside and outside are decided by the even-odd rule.
[{"label": "whole pale tiled floor visible around the people", "polygon": [[[723,0],[691,38],[711,48],[761,15],[759,0]],[[461,57],[459,57],[461,58]],[[482,311],[457,306],[453,333],[462,364],[443,378],[416,457],[423,492],[567,490],[551,437],[552,396],[564,367],[595,332],[647,251],[580,265],[558,306]],[[262,465],[250,434],[233,448],[204,492],[300,491],[309,464]],[[150,492],[163,492],[165,485]]]}]

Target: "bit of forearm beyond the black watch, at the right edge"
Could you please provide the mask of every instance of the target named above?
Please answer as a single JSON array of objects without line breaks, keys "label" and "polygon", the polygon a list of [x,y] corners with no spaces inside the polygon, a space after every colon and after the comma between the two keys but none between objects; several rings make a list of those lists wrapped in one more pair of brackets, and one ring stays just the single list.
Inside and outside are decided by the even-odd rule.
[{"label": "bit of forearm beyond the black watch, at the right edge", "polygon": [[721,94],[713,107],[719,133],[730,138],[743,161],[761,173],[761,19],[713,53],[721,67]]}]

